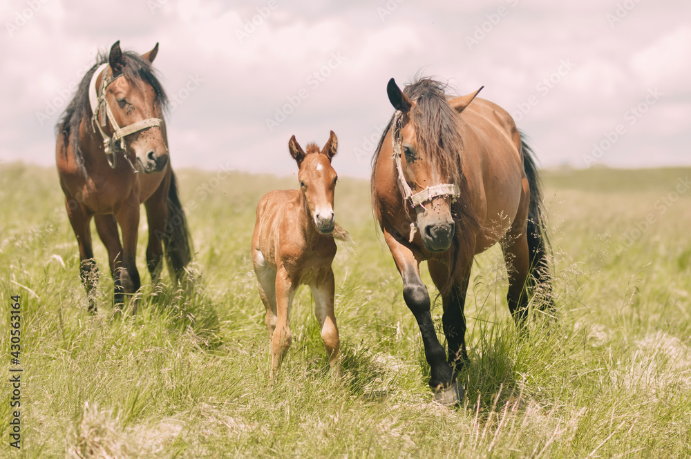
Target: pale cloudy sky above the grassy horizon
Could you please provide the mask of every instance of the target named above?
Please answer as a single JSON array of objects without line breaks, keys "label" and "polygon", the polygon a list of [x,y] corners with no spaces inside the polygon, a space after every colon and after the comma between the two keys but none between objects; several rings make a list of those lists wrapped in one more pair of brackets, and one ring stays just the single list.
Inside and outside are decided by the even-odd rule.
[{"label": "pale cloudy sky above the grassy horizon", "polygon": [[173,167],[291,175],[339,138],[368,177],[401,88],[435,77],[513,115],[545,168],[691,166],[688,0],[0,0],[0,166],[55,164],[98,50],[143,53],[171,98]]}]

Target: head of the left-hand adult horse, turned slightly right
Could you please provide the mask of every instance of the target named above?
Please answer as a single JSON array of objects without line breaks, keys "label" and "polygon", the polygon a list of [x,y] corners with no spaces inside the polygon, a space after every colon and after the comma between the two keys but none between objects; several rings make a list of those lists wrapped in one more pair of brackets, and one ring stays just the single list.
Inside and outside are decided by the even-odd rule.
[{"label": "head of the left-hand adult horse, turned slightly right", "polygon": [[[133,53],[123,53],[117,41],[108,54],[108,67],[104,78],[115,78],[106,88],[108,105],[118,126],[130,126],[150,118],[163,119],[165,93],[153,75],[151,63],[158,54],[158,43],[141,57]],[[110,126],[112,129],[112,126]],[[112,133],[111,133],[112,135]],[[151,126],[124,137],[125,154],[132,164],[139,163],[144,173],[160,172],[168,163],[168,146],[164,139],[162,126]],[[119,142],[116,142],[119,148]]]}]

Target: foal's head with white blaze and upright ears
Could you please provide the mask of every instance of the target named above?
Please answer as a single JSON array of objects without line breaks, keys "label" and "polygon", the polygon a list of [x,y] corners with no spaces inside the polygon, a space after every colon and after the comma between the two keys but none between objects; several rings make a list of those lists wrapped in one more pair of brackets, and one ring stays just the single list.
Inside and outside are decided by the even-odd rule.
[{"label": "foal's head with white blaze and upright ears", "polygon": [[290,137],[288,142],[290,155],[300,168],[300,192],[305,197],[314,226],[322,234],[332,233],[336,225],[334,191],[338,175],[331,166],[331,159],[336,155],[338,143],[334,131],[331,131],[329,140],[321,150],[316,144],[308,144],[305,152],[295,136]]}]

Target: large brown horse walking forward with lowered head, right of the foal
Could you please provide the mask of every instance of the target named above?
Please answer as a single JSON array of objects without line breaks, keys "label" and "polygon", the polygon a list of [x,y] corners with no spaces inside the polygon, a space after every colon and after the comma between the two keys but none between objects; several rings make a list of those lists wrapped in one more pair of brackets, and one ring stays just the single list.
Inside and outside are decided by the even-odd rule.
[{"label": "large brown horse walking forward with lowered head, right of the foal", "polygon": [[[439,402],[454,404],[468,360],[463,311],[474,255],[500,242],[519,326],[529,291],[539,286],[551,304],[538,172],[511,116],[476,99],[480,90],[453,98],[421,79],[401,92],[390,79],[387,92],[397,111],[372,160],[372,206],[422,333],[430,387]],[[423,261],[442,297],[448,362],[420,279]]]}]

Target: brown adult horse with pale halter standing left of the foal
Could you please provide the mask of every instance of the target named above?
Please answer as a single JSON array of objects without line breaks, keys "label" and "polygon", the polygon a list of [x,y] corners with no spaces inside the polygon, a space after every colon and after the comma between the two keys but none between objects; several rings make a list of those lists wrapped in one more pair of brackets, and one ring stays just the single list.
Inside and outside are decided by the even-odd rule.
[{"label": "brown adult horse with pale halter standing left of the foal", "polygon": [[108,251],[118,307],[124,294],[134,293],[141,284],[135,264],[140,204],[146,207],[149,223],[146,262],[152,282],[158,280],[162,268],[162,244],[176,279],[191,260],[163,121],[167,97],[151,67],[157,53],[158,43],[140,56],[122,52],[120,41],[115,42],[108,55],[99,55],[86,72],[57,124],[57,170],[79,244],[80,274],[90,311],[95,311],[93,293],[98,280],[92,217]]}]

